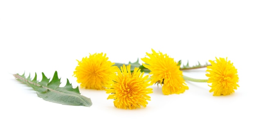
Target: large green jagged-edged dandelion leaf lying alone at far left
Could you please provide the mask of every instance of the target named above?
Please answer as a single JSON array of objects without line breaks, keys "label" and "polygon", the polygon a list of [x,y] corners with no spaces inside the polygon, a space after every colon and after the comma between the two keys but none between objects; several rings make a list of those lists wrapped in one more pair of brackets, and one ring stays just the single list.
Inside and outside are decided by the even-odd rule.
[{"label": "large green jagged-edged dandelion leaf lying alone at far left", "polygon": [[36,74],[33,80],[31,80],[30,74],[27,78],[25,77],[25,73],[22,75],[14,74],[13,76],[16,80],[32,87],[37,91],[38,97],[43,98],[46,101],[63,105],[92,106],[90,98],[81,95],[79,88],[73,88],[68,79],[64,87],[59,87],[61,78],[58,78],[57,71],[55,71],[50,82],[50,79],[47,78],[44,73],[42,73],[42,75],[43,78],[40,82],[36,79]]}]

